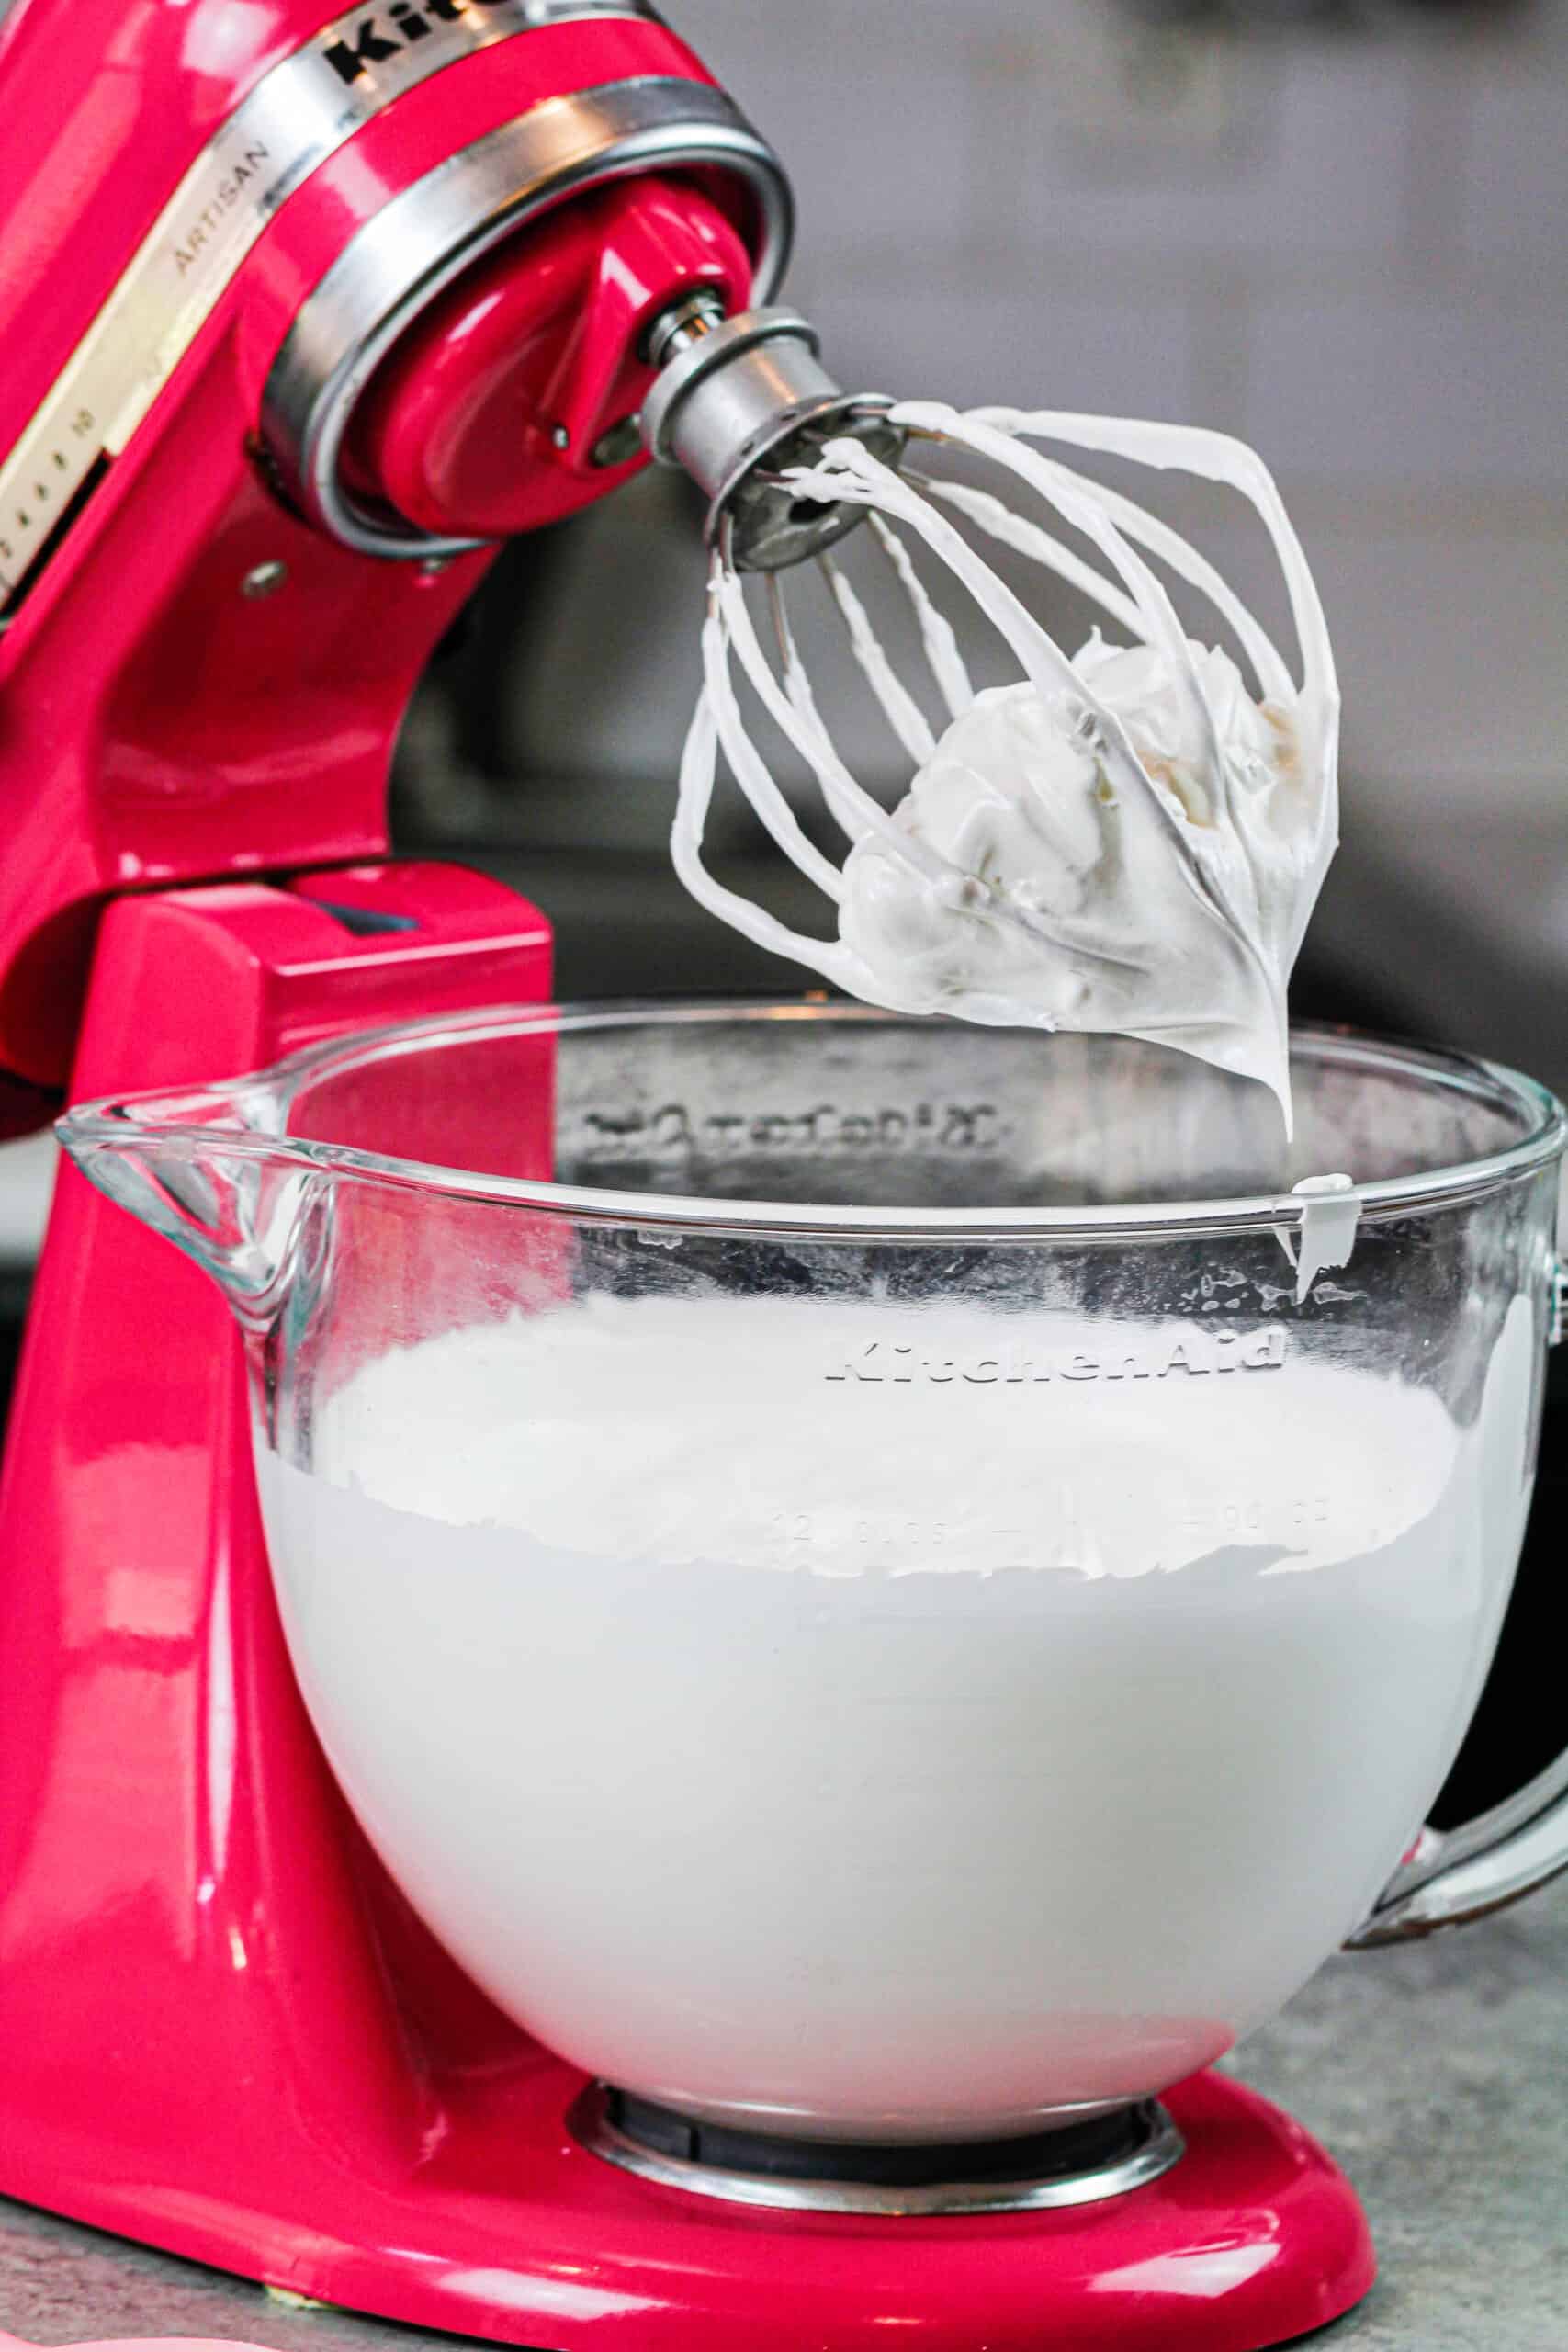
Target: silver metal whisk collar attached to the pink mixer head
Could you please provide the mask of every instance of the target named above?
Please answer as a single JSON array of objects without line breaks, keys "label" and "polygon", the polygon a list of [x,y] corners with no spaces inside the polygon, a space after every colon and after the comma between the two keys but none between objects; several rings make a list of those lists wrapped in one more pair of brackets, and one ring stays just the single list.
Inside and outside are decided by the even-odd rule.
[{"label": "silver metal whisk collar attached to the pink mixer head", "polygon": [[644,339],[661,376],[642,437],[661,463],[684,466],[708,492],[708,532],[726,529],[738,572],[783,572],[865,522],[865,508],[797,499],[790,487],[790,468],[816,466],[830,440],[849,435],[886,466],[903,456],[893,402],[844,393],[818,348],[799,310],[724,318],[712,294],[665,310]]}]

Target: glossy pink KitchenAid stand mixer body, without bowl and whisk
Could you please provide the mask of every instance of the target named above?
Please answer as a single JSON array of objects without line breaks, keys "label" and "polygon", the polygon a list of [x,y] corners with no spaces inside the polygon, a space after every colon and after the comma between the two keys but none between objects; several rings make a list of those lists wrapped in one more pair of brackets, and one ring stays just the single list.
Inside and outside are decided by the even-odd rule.
[{"label": "glossy pink KitchenAid stand mixer body, without bowl and whisk", "polygon": [[[755,567],[849,527],[776,480],[889,445],[755,308],[780,165],[639,0],[19,0],[0,75],[9,1131],[548,1002],[543,915],[386,863],[390,746],[494,543],[628,480],[639,414]],[[536,2352],[1253,2352],[1366,2293],[1345,2178],[1215,2074],[969,2194],[940,2150],[851,2150],[860,2211],[701,2194],[757,2152],[590,2093],[369,1851],[247,1428],[223,1301],[66,1171],[5,1461],[0,2192]]]}]

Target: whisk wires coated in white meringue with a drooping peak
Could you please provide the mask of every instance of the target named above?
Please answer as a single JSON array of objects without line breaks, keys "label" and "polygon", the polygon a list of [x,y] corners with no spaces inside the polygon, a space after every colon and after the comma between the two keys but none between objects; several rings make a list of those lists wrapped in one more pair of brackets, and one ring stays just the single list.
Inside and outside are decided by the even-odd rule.
[{"label": "whisk wires coated in white meringue with a drooping peak", "polygon": [[[1267,468],[1241,442],[1187,426],[1016,409],[961,416],[933,402],[905,402],[893,419],[914,435],[914,461],[924,445],[969,449],[1006,489],[1032,494],[1044,520],[969,482],[898,475],[853,440],[799,470],[802,499],[872,510],[947,720],[940,734],[931,727],[830,562],[856,661],[914,769],[898,807],[882,809],[832,746],[783,607],[773,661],[741,576],[719,557],[675,823],[682,880],[748,938],[865,1002],[1147,1037],[1272,1087],[1288,1124],[1286,990],[1338,844],[1340,696],[1316,588]],[[1284,572],[1300,675],[1180,534],[1032,449],[1037,440],[1241,492]],[[1063,543],[1058,524],[1098,562]],[[973,691],[910,541],[999,630],[1016,684]],[[976,541],[1004,543],[1086,593],[1103,626],[1067,654]],[[1244,666],[1187,633],[1147,557],[1213,609]],[[736,666],[823,788],[849,842],[842,868],[806,840],[748,734]],[[708,873],[719,755],[785,856],[835,903],[837,938],[785,927]]]}]

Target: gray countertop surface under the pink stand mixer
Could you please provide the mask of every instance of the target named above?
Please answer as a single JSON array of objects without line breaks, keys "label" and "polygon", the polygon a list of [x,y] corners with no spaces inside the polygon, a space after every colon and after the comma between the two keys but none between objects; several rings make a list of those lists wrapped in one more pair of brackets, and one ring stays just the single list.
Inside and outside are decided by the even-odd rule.
[{"label": "gray countertop surface under the pink stand mixer", "polygon": [[[1324,2352],[1568,2345],[1568,1882],[1406,1952],[1335,1959],[1239,2072],[1347,2166],[1382,2279]],[[292,2310],[256,2286],[0,2201],[0,2328],[40,2345],[230,2336],[270,2352],[440,2338]]]}]

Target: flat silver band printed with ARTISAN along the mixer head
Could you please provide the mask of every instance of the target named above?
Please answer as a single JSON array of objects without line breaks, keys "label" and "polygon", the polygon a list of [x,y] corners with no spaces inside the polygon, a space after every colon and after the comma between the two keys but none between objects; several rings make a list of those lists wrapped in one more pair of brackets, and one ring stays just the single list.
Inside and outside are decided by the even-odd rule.
[{"label": "flat silver band printed with ARTISAN along the mixer head", "polygon": [[261,75],[207,141],[21,440],[0,459],[0,602],[101,454],[118,456],[280,205],[404,89],[496,42],[651,0],[428,0],[346,9]]}]

